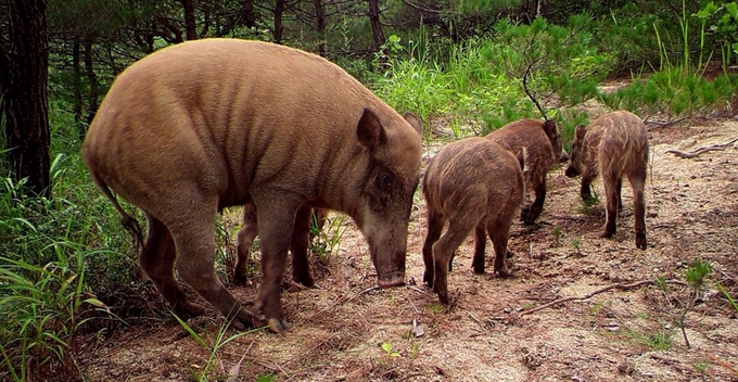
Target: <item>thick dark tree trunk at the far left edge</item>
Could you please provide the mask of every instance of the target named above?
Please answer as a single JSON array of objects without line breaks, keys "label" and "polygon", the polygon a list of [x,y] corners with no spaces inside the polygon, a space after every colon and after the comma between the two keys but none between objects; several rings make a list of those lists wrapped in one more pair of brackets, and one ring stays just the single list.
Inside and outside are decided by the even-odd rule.
[{"label": "thick dark tree trunk at the far left edge", "polygon": [[28,178],[39,195],[51,198],[49,170],[49,40],[47,0],[10,0],[10,78],[3,96],[8,160],[12,177]]}]

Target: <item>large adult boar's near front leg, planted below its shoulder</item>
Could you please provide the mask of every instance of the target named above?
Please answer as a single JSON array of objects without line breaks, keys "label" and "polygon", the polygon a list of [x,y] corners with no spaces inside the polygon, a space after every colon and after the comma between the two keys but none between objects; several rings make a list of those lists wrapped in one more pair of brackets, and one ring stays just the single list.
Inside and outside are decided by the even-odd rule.
[{"label": "large adult boar's near front leg, planted below its shoulder", "polygon": [[269,329],[281,333],[290,329],[283,318],[281,303],[281,283],[287,263],[287,252],[292,242],[296,212],[302,203],[289,198],[279,199],[271,195],[254,199],[259,220],[262,238],[262,285],[254,304],[255,311],[262,314]]}]

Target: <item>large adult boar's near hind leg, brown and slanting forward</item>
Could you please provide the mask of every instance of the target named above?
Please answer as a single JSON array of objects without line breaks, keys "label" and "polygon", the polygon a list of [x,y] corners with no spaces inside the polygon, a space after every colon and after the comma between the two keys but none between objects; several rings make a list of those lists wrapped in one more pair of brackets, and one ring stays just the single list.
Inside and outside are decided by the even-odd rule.
[{"label": "large adult boar's near hind leg, brown and slanting forward", "polygon": [[[194,192],[190,193],[194,194]],[[177,245],[177,271],[184,282],[213,304],[237,329],[254,324],[253,316],[228,293],[215,272],[217,203],[193,199],[167,221]],[[192,207],[200,206],[200,208]],[[209,208],[208,208],[209,207]]]}]

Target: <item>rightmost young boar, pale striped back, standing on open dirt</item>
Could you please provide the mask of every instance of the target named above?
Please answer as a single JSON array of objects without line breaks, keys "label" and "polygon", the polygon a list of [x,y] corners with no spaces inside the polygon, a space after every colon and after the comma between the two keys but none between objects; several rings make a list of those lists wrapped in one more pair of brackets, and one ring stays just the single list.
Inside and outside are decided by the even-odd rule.
[{"label": "rightmost young boar, pale striped back, standing on open dirt", "polygon": [[636,246],[646,249],[646,167],[648,166],[648,135],[646,125],[628,112],[614,112],[600,115],[589,127],[576,127],[572,143],[571,163],[567,168],[570,178],[582,175],[583,200],[591,198],[590,184],[598,174],[602,174],[605,196],[607,198],[607,222],[603,238],[615,234],[618,211],[623,202],[620,196],[623,176],[633,189],[635,209]]}]

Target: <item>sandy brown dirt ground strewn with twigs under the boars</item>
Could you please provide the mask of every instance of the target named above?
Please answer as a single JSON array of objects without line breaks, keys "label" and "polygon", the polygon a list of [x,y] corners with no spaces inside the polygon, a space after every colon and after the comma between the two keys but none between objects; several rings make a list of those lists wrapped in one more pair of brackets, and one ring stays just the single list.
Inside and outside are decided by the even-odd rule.
[{"label": "sandy brown dirt ground strewn with twigs under the boars", "polygon": [[[90,381],[189,381],[194,374],[232,381],[738,381],[738,313],[716,288],[720,282],[738,297],[738,143],[691,160],[666,153],[728,142],[738,138],[738,122],[690,125],[649,125],[646,251],[635,247],[627,182],[618,233],[600,239],[601,180],[595,191],[602,200],[585,208],[578,180],[556,168],[537,224],[513,224],[514,276],[473,275],[470,237],[457,251],[448,283],[453,302],[444,307],[422,284],[425,221],[418,192],[408,285],[372,288],[367,245],[346,219],[327,265],[313,262],[319,288],[285,284],[282,303],[292,331],[260,330],[224,344],[238,332],[229,329],[217,341],[224,322],[211,311],[189,321],[205,348],[173,318],[144,319],[100,343],[90,339],[79,368]],[[435,149],[427,149],[425,164]],[[228,231],[236,229],[238,211],[225,220]],[[698,258],[713,272],[684,318],[687,346],[679,324],[690,301],[684,280]],[[658,278],[682,283],[613,288],[581,298]],[[255,284],[230,291],[244,304],[256,295]],[[525,314],[570,296],[581,300]]]}]

